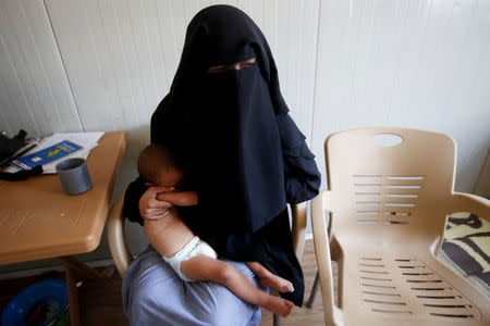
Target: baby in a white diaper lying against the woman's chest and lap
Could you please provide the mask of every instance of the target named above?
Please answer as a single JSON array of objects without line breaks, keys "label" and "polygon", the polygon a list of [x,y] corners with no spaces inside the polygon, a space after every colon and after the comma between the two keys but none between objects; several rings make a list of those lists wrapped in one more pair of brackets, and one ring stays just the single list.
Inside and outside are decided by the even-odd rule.
[{"label": "baby in a white diaper lying against the woman's chest and lap", "polygon": [[[138,156],[138,173],[147,185],[174,187],[173,192],[161,192],[158,200],[168,201],[175,206],[197,204],[195,191],[179,191],[183,171],[174,155],[164,147],[150,145]],[[216,251],[200,240],[182,222],[175,208],[160,220],[145,220],[145,234],[154,248],[162,255],[175,273],[186,281],[211,280],[222,284],[243,300],[266,308],[285,317],[293,302],[268,294],[258,288],[231,264],[217,259]],[[266,269],[258,262],[246,262],[259,277],[260,284],[280,292],[294,291],[291,281]]]}]

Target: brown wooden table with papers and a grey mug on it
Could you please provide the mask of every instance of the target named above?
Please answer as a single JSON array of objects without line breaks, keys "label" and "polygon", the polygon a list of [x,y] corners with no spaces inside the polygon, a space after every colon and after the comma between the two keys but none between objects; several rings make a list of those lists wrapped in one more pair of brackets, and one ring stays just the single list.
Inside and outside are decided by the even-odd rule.
[{"label": "brown wooden table with papers and a grey mug on it", "polygon": [[79,325],[75,271],[105,277],[71,256],[89,252],[100,242],[126,139],[106,133],[87,158],[93,187],[65,195],[57,175],[24,181],[0,180],[0,264],[58,258],[66,269],[70,319]]}]

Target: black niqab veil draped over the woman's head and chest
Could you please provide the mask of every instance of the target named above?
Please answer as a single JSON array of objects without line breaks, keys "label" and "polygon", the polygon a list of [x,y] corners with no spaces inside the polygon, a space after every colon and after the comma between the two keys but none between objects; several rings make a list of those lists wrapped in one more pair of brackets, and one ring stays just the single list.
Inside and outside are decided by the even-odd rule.
[{"label": "black niqab veil draped over the woman's head and chest", "polygon": [[[252,67],[206,73],[250,58],[256,58]],[[167,142],[169,137],[154,125],[167,126],[169,114],[182,115],[185,123],[176,137],[186,185],[197,191],[199,206],[213,212],[204,227],[254,233],[284,210],[275,116],[287,112],[275,63],[257,25],[229,5],[197,13],[170,93],[152,116],[151,139]]]}]

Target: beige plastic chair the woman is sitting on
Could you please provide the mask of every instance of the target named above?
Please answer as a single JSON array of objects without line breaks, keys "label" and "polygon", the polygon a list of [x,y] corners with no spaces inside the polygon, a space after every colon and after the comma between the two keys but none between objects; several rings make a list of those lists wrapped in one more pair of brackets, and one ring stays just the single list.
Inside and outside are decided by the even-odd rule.
[{"label": "beige plastic chair the woman is sitting on", "polygon": [[[112,205],[108,222],[109,248],[112,259],[121,277],[127,271],[133,256],[124,236],[124,216],[122,209],[124,205],[124,192],[122,192]],[[305,230],[306,230],[306,202],[302,202],[292,206],[292,233],[294,251],[298,260],[303,255],[305,248]],[[273,325],[279,326],[280,317],[273,316]]]}]

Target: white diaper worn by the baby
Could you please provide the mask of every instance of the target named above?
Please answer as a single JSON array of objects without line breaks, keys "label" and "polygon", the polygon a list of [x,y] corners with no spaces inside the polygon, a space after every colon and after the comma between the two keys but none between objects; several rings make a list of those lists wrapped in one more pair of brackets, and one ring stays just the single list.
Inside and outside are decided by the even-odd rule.
[{"label": "white diaper worn by the baby", "polygon": [[182,271],[181,271],[181,263],[188,261],[192,258],[195,258],[196,255],[204,255],[209,256],[212,259],[217,259],[218,254],[216,251],[206,243],[205,241],[200,240],[199,237],[194,237],[191,241],[187,242],[187,244],[184,246],[177,253],[175,253],[171,258],[167,258],[162,255],[163,260],[172,266],[173,271],[185,281],[193,281],[191,278],[186,277]]}]

